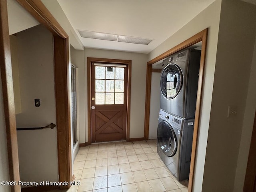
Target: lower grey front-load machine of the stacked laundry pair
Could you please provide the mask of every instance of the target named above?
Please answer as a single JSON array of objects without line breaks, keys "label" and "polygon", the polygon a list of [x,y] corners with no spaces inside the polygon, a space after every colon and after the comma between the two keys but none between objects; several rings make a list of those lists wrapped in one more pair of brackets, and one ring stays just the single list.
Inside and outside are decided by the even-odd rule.
[{"label": "lower grey front-load machine of the stacked laundry pair", "polygon": [[194,119],[159,112],[157,152],[178,181],[189,178]]}]

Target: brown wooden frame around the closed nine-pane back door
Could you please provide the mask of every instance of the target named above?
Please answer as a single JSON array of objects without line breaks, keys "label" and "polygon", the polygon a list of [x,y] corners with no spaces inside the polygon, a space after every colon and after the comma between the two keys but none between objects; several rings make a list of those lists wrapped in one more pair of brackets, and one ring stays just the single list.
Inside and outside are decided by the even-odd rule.
[{"label": "brown wooden frame around the closed nine-pane back door", "polygon": [[128,67],[128,85],[127,85],[127,113],[126,113],[126,141],[130,141],[130,106],[131,106],[131,72],[132,72],[132,61],[121,60],[121,59],[107,59],[107,58],[87,58],[87,111],[88,111],[88,142],[86,145],[92,144],[92,116],[91,116],[91,70],[94,62],[103,62],[106,64],[126,64]]}]

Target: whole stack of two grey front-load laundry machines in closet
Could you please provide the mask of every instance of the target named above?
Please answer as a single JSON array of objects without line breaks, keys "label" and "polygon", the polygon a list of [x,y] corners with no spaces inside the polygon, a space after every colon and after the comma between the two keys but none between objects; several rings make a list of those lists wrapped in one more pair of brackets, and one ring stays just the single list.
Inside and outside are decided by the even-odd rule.
[{"label": "whole stack of two grey front-load laundry machines in closet", "polygon": [[188,49],[162,63],[157,151],[178,181],[189,178],[200,55]]}]

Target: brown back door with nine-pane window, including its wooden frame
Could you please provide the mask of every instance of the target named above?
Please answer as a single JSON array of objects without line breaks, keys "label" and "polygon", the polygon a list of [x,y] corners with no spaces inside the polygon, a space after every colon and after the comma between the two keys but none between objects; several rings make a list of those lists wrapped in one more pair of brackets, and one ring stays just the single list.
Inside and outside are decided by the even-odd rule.
[{"label": "brown back door with nine-pane window, including its wooden frame", "polygon": [[129,140],[131,61],[88,58],[88,143]]}]

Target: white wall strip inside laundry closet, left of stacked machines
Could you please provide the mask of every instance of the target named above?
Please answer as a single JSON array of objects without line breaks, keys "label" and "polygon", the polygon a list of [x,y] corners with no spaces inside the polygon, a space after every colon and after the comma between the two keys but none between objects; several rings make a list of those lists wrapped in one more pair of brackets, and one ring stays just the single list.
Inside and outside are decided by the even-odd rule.
[{"label": "white wall strip inside laundry closet, left of stacked machines", "polygon": [[161,73],[153,72],[151,76],[150,115],[148,138],[157,139],[158,116],[160,110]]}]

